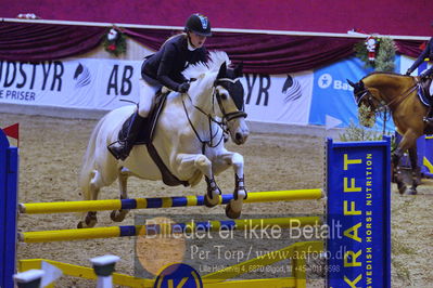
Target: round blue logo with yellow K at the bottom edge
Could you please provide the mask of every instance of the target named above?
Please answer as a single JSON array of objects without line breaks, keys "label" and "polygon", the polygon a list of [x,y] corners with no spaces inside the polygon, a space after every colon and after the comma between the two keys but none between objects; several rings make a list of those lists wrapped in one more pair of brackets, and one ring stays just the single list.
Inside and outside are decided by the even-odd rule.
[{"label": "round blue logo with yellow K at the bottom edge", "polygon": [[203,288],[199,273],[190,265],[176,263],[165,267],[156,277],[154,288]]}]

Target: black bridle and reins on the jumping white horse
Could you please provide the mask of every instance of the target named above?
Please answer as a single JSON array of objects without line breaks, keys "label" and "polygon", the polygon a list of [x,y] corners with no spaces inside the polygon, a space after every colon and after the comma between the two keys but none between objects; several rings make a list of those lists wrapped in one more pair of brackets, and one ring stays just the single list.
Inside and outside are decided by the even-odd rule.
[{"label": "black bridle and reins on the jumping white horse", "polygon": [[[231,82],[231,83],[235,83],[237,81],[240,81],[240,80],[239,80],[239,78],[237,78],[237,79],[220,78],[220,79],[215,80],[215,82],[214,82],[213,91],[212,91],[212,106],[213,106],[213,112],[215,113],[215,99],[216,99],[217,103],[218,103],[219,110],[222,114],[222,118],[221,118],[220,121],[218,121],[215,117],[213,117],[212,114],[206,113],[201,107],[199,107],[195,104],[193,104],[192,99],[191,99],[191,96],[190,96],[190,94],[188,92],[182,94],[182,105],[183,105],[184,114],[187,115],[188,122],[190,123],[192,130],[194,131],[194,134],[195,134],[196,139],[202,143],[202,153],[203,154],[205,154],[206,146],[209,147],[209,148],[214,148],[214,147],[217,147],[221,143],[221,141],[224,140],[224,133],[228,133],[227,125],[228,125],[229,121],[234,120],[237,118],[241,118],[241,117],[246,118],[246,116],[247,116],[247,114],[243,110],[243,106],[242,106],[242,110],[226,113],[226,109],[224,108],[224,105],[222,105],[221,95],[218,93],[218,91],[216,89],[217,86],[219,86],[221,82],[225,82],[225,81],[228,81],[228,82]],[[191,105],[196,110],[199,110],[201,114],[203,114],[203,115],[205,115],[207,117],[208,126],[209,126],[209,140],[205,141],[205,140],[202,140],[202,138],[200,136],[198,130],[195,129],[195,127],[192,123],[191,118],[189,116],[187,106],[184,104],[184,96],[183,95],[188,96],[188,99],[191,102]],[[215,133],[213,132],[213,129],[212,129],[212,123],[213,122],[216,123],[218,126],[218,128],[222,130],[221,136],[216,143],[214,143],[214,140],[218,135],[218,130]]]}]

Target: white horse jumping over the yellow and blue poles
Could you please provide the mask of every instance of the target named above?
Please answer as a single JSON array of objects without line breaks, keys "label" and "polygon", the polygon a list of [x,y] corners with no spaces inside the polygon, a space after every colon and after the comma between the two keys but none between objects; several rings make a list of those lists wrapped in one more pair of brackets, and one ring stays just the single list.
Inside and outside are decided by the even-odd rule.
[{"label": "white horse jumping over the yellow and blue poles", "polygon": [[[170,92],[156,125],[153,144],[161,159],[178,180],[196,185],[203,175],[207,182],[205,205],[216,206],[220,191],[214,175],[232,166],[235,173],[233,200],[226,207],[230,218],[239,218],[246,198],[242,155],[224,146],[224,127],[231,140],[240,145],[249,136],[243,112],[244,91],[239,77],[242,68],[227,68],[230,61],[225,52],[212,52],[207,64],[188,67],[183,75],[191,82],[188,93]],[[110,112],[94,128],[80,171],[79,184],[86,200],[98,199],[100,188],[119,181],[120,199],[128,198],[127,179],[162,180],[162,172],[150,157],[145,145],[133,146],[125,161],[116,160],[107,145],[117,140],[125,120],[136,106],[124,106]],[[128,210],[113,211],[114,221],[123,221]],[[89,211],[78,227],[97,224],[97,212]]]}]

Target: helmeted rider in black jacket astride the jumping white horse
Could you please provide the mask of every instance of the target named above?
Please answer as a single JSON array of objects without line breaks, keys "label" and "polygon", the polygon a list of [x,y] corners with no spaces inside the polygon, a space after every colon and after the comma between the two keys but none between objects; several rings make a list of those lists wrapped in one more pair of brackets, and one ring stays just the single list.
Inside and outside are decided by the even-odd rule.
[{"label": "helmeted rider in black jacket astride the jumping white horse", "polygon": [[181,74],[189,64],[207,62],[203,47],[206,37],[212,36],[211,23],[202,14],[192,14],[184,25],[184,32],[169,38],[155,54],[147,57],[141,66],[140,100],[132,116],[125,140],[109,146],[116,159],[125,160],[137,139],[141,125],[147,119],[155,93],[163,87],[180,93],[188,92],[190,84]]}]

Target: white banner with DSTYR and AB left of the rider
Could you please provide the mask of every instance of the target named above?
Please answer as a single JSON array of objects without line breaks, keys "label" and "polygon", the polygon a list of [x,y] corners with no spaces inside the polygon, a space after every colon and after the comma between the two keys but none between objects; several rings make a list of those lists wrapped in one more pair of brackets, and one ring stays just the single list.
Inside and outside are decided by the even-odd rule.
[{"label": "white banner with DSTYR and AB left of the rider", "polygon": [[138,100],[141,61],[0,62],[0,102],[113,109]]}]

